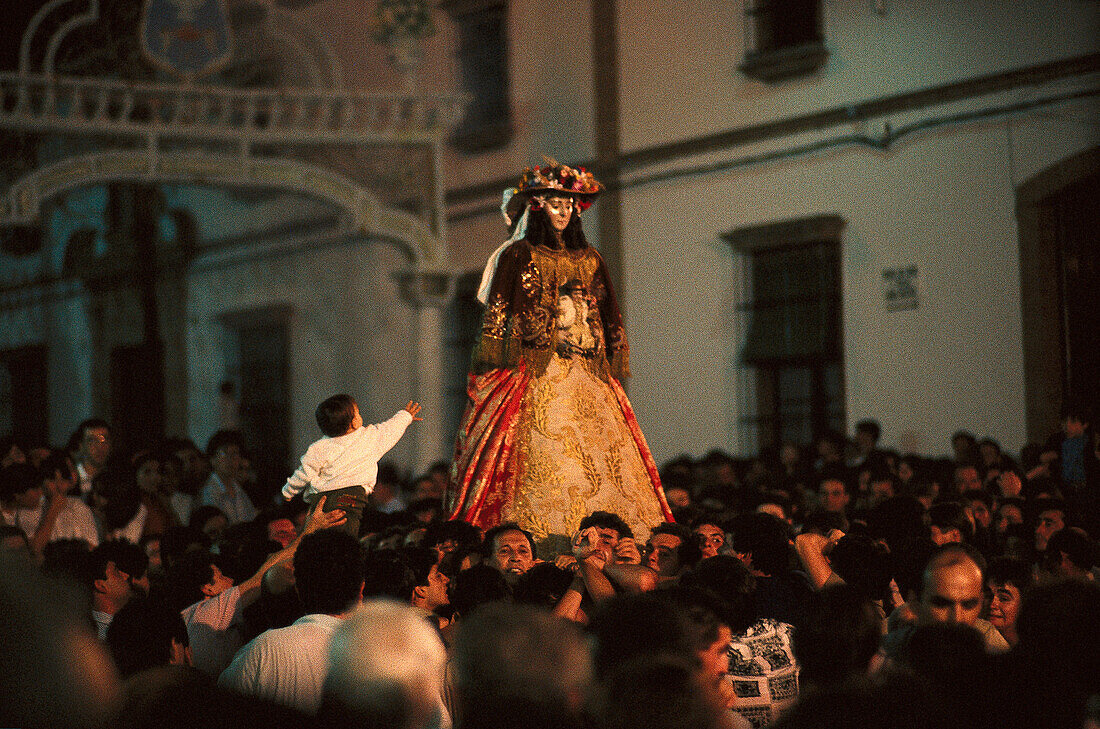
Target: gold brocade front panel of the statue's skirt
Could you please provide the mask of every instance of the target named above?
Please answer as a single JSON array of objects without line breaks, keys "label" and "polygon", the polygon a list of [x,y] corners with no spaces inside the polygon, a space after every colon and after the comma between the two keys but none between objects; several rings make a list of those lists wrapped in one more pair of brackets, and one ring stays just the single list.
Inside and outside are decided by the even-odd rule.
[{"label": "gold brocade front panel of the statue's skirt", "polygon": [[544,539],[570,535],[581,519],[604,510],[620,516],[640,540],[664,521],[614,393],[582,360],[553,354],[531,380],[521,413],[521,467],[504,521]]}]

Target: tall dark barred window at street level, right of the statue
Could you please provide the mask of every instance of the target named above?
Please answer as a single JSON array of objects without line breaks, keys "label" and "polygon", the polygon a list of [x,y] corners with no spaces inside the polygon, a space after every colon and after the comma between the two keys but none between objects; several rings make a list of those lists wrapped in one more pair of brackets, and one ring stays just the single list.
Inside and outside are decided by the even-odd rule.
[{"label": "tall dark barred window at street level, right of the statue", "polygon": [[738,352],[749,400],[743,443],[807,444],[825,430],[844,431],[843,225],[824,216],[726,235],[745,254],[749,292]]}]

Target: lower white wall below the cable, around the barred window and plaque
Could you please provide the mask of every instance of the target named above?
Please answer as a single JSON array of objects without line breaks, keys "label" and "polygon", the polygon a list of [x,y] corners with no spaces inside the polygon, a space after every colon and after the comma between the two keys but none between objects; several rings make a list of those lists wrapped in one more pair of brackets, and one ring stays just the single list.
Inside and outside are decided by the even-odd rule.
[{"label": "lower white wall below the cable, around the barred window and plaque", "polygon": [[[737,173],[629,188],[626,294],[630,395],[658,461],[737,452],[732,331],[740,272],[717,238],[838,213],[847,413],[883,442],[945,453],[966,428],[1018,451],[1025,439],[1014,187],[1094,146],[1097,102],[959,125],[890,152],[842,148]],[[889,312],[884,268],[916,265],[919,309]]]}]

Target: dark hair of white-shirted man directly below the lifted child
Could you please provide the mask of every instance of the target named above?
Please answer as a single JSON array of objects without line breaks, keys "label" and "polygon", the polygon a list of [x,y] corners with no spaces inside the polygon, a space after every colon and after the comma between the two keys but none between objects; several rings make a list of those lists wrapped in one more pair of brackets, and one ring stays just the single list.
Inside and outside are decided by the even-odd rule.
[{"label": "dark hair of white-shirted man directly below the lifted child", "polygon": [[302,537],[294,553],[294,584],[307,614],[348,610],[363,587],[359,540],[339,529]]}]

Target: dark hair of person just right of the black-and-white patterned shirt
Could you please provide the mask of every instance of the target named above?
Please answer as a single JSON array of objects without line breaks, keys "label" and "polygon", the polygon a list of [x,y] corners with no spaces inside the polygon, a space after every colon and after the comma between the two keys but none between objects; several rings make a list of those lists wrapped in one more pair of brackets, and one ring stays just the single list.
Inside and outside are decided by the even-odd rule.
[{"label": "dark hair of person just right of the black-and-white patterned shirt", "polygon": [[836,585],[816,592],[806,616],[792,640],[800,681],[828,686],[866,674],[879,651],[882,621],[862,589]]}]

